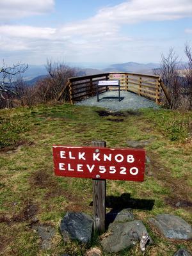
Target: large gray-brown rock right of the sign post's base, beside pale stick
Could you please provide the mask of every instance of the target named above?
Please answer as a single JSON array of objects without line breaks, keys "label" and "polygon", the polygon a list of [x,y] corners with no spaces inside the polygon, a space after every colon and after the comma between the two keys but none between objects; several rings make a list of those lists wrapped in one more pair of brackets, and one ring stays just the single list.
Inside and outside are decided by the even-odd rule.
[{"label": "large gray-brown rock right of the sign post's base, beside pale stick", "polygon": [[[142,221],[134,220],[125,223],[112,223],[101,244],[106,252],[120,252],[140,241],[143,233],[147,233]],[[152,239],[149,237],[149,242]]]}]

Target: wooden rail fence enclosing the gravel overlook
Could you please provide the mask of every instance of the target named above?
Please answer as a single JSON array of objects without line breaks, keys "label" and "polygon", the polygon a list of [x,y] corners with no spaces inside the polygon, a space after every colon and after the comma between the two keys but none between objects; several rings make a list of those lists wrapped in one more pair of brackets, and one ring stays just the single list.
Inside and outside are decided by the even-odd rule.
[{"label": "wooden rail fence enclosing the gravel overlook", "polygon": [[[114,74],[118,74],[119,78],[116,78]],[[168,102],[170,97],[163,82],[159,76],[150,76],[145,74],[125,73],[125,72],[114,72],[97,74],[93,76],[81,76],[72,77],[68,79],[67,86],[63,88],[58,99],[65,90],[68,90],[68,99],[73,104],[74,102],[92,97],[97,93],[97,83],[102,80],[113,80],[120,79],[120,89],[136,93],[147,99],[156,101],[160,104],[161,92],[164,93]],[[109,87],[109,90],[113,90]],[[99,93],[105,92],[106,88],[100,88]]]}]

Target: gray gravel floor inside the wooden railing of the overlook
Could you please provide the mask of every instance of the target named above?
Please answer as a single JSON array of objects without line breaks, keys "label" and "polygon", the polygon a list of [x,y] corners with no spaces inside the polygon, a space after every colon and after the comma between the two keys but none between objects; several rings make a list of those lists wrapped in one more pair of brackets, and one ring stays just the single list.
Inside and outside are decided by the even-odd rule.
[{"label": "gray gravel floor inside the wooden railing of the overlook", "polygon": [[[110,99],[109,97],[116,97]],[[124,109],[141,109],[141,108],[159,108],[156,102],[145,99],[139,95],[131,92],[122,91],[120,93],[121,101],[118,101],[118,91],[104,92],[99,95],[99,102],[97,102],[97,96],[77,102],[76,105],[81,106],[97,106],[112,111],[120,111]]]}]

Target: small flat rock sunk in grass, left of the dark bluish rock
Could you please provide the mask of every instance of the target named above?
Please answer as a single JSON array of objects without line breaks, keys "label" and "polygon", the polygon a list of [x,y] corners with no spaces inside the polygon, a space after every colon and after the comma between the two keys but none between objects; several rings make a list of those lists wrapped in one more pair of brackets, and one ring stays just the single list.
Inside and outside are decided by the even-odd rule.
[{"label": "small flat rock sunk in grass, left of the dark bluish rock", "polygon": [[42,239],[42,249],[49,250],[51,249],[51,239],[55,234],[55,230],[51,226],[47,225],[33,225],[33,230],[36,230],[38,235]]}]

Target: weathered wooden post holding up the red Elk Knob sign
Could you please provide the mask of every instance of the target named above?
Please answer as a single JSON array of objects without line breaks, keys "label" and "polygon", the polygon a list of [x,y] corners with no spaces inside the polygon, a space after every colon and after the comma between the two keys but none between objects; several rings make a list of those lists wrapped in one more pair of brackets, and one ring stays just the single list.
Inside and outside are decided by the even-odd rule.
[{"label": "weathered wooden post holding up the red Elk Knob sign", "polygon": [[[105,141],[92,141],[92,147],[106,147]],[[106,180],[93,179],[93,228],[99,233],[105,232],[106,219]],[[97,175],[96,175],[97,177]]]}]

